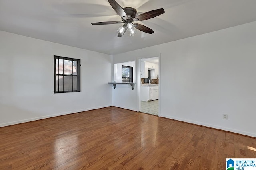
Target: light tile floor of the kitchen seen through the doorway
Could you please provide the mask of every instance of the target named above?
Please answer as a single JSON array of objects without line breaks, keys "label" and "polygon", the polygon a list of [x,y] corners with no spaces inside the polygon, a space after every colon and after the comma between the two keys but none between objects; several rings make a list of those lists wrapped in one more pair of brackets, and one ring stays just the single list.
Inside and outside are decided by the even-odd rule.
[{"label": "light tile floor of the kitchen seen through the doorway", "polygon": [[140,101],[140,106],[140,112],[158,115],[158,100],[153,100],[150,102]]}]

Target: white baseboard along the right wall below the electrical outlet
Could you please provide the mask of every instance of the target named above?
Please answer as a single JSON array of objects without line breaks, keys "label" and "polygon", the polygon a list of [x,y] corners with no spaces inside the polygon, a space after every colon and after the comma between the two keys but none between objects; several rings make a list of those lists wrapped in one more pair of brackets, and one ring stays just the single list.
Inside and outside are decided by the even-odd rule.
[{"label": "white baseboard along the right wall below the electrical outlet", "polygon": [[220,130],[223,130],[223,131],[239,133],[239,134],[247,135],[247,136],[251,136],[251,137],[256,137],[256,134],[254,134],[254,133],[248,133],[248,132],[240,131],[240,130],[237,130],[237,129],[230,129],[230,128],[227,128],[227,127],[216,126],[216,125],[197,122],[197,121],[192,121],[192,120],[188,120],[188,119],[180,119],[178,117],[172,117],[172,116],[168,116],[168,115],[161,115],[161,117],[165,117],[165,118],[173,119],[173,120],[178,120],[178,121],[183,121],[183,122],[186,122],[186,123],[192,123],[192,124],[196,124],[196,125],[211,127],[211,128],[214,128],[214,129],[220,129]]}]

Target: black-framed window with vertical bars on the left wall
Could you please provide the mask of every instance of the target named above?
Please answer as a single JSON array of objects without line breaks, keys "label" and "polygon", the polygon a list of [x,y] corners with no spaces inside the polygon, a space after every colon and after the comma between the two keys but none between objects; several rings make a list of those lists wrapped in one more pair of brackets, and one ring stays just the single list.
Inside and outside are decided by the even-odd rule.
[{"label": "black-framed window with vertical bars on the left wall", "polygon": [[54,93],[80,92],[80,59],[54,55]]}]

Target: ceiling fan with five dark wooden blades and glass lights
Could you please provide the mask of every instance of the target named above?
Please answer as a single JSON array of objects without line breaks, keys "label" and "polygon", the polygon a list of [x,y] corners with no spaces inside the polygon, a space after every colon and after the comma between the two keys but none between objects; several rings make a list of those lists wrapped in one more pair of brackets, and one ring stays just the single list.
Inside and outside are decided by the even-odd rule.
[{"label": "ceiling fan with five dark wooden blades and glass lights", "polygon": [[160,9],[148,11],[148,12],[145,12],[143,14],[136,16],[136,14],[137,14],[136,9],[134,9],[132,7],[122,8],[115,0],[108,0],[108,2],[112,6],[112,8],[116,11],[116,13],[121,16],[122,22],[120,22],[120,21],[95,22],[95,23],[92,23],[92,25],[107,25],[107,24],[124,23],[123,26],[118,28],[117,37],[122,37],[122,35],[124,35],[124,33],[127,30],[128,30],[128,34],[130,36],[134,35],[135,34],[134,27],[140,31],[145,32],[145,33],[152,34],[152,33],[154,33],[154,31],[152,29],[150,29],[149,27],[146,27],[139,23],[132,23],[132,22],[148,20],[150,18],[154,18],[156,16],[164,14],[164,9],[160,8]]}]

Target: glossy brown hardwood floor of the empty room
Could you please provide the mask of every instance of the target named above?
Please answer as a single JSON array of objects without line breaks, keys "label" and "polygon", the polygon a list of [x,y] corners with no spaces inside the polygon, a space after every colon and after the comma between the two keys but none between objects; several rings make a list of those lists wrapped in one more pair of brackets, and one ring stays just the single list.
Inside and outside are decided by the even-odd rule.
[{"label": "glossy brown hardwood floor of the empty room", "polygon": [[0,128],[0,170],[224,170],[256,139],[117,107]]}]

